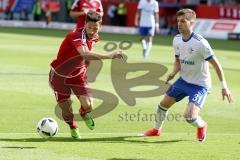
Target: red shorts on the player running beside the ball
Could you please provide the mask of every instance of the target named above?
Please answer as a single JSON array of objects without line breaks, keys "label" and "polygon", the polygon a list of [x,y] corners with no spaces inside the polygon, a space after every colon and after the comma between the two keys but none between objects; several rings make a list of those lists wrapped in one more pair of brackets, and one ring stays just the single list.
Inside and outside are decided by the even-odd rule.
[{"label": "red shorts on the player running beside the ball", "polygon": [[72,93],[77,97],[90,93],[86,72],[83,74],[66,78],[58,75],[54,70],[50,70],[49,84],[54,90],[58,102],[69,99]]}]

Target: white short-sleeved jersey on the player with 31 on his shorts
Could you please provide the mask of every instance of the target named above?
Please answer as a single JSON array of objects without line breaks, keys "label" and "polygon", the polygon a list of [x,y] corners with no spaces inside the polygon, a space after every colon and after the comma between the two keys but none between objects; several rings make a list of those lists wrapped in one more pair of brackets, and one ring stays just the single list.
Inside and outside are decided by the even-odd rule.
[{"label": "white short-sleeved jersey on the player with 31 on his shorts", "polygon": [[192,33],[188,40],[178,34],[173,39],[175,56],[180,60],[180,76],[188,83],[211,88],[209,63],[214,52],[208,41],[201,35]]}]

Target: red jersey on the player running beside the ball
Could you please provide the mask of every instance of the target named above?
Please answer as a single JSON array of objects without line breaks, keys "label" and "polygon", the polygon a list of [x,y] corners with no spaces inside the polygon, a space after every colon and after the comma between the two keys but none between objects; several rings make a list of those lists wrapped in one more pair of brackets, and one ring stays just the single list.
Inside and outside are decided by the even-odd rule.
[{"label": "red jersey on the player running beside the ball", "polygon": [[86,46],[89,50],[92,50],[93,45],[98,40],[98,35],[93,39],[87,40],[84,28],[78,28],[69,32],[59,48],[57,59],[51,63],[52,68],[57,74],[67,78],[77,75],[85,77],[89,61],[83,59],[77,51],[77,47]]}]

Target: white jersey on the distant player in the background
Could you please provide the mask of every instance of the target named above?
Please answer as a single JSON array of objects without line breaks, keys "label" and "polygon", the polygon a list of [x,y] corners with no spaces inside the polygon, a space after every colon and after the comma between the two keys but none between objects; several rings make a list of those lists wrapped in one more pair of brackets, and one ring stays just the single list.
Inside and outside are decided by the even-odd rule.
[{"label": "white jersey on the distant player in the background", "polygon": [[156,0],[140,0],[138,3],[140,11],[140,27],[155,27],[154,14],[159,12],[158,2]]}]

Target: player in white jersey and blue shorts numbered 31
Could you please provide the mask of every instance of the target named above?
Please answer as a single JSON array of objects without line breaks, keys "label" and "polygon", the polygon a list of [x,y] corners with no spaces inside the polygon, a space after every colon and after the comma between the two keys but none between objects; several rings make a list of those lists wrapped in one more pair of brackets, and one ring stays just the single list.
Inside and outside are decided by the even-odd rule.
[{"label": "player in white jersey and blue shorts numbered 31", "polygon": [[180,34],[173,39],[175,50],[175,63],[172,72],[168,75],[166,83],[180,72],[180,77],[166,92],[155,113],[154,128],[144,132],[145,136],[159,136],[168,109],[184,97],[189,102],[183,114],[186,121],[197,128],[197,140],[202,142],[206,138],[207,123],[199,116],[211,87],[209,63],[215,69],[222,84],[223,100],[227,97],[232,101],[230,90],[225,81],[223,69],[217,60],[208,41],[193,32],[196,13],[191,9],[181,9],[177,12],[177,24]]}]

